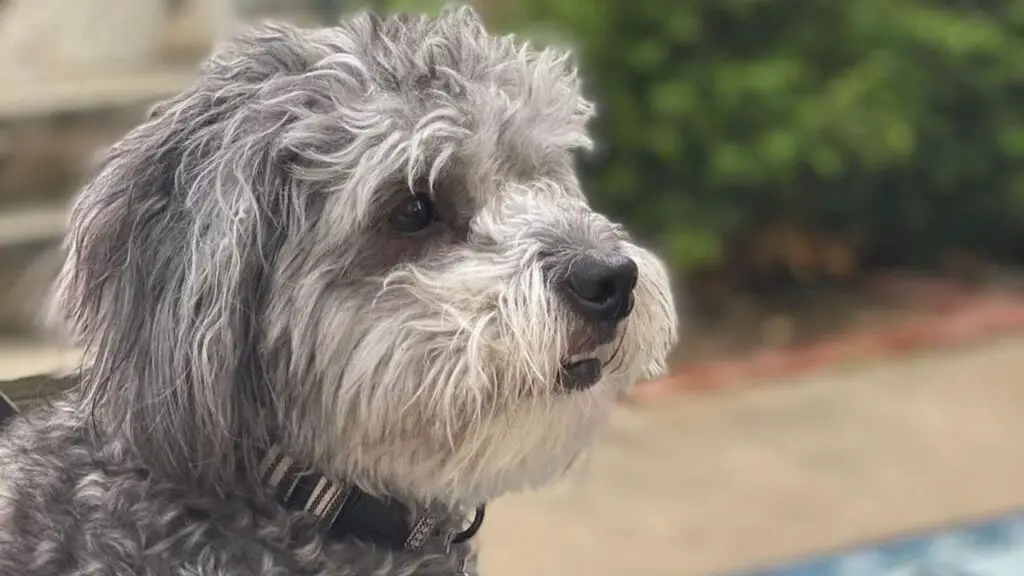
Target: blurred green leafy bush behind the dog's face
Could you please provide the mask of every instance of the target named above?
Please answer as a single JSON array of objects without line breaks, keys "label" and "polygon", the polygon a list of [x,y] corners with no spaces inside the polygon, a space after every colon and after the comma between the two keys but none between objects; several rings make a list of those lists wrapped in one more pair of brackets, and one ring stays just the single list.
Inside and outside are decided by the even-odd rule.
[{"label": "blurred green leafy bush behind the dog's face", "polygon": [[481,8],[578,49],[591,198],[682,270],[842,277],[1024,247],[1024,0]]}]

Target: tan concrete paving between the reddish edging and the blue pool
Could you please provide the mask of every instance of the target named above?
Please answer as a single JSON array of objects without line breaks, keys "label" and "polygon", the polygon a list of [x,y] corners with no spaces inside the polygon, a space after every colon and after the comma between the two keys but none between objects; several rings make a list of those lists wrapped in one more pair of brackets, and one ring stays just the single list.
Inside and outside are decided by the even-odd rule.
[{"label": "tan concrete paving between the reddish edging and the blue pool", "polygon": [[[0,343],[0,376],[60,355]],[[1024,505],[1024,339],[624,408],[581,478],[488,509],[489,576],[716,574]]]}]

